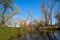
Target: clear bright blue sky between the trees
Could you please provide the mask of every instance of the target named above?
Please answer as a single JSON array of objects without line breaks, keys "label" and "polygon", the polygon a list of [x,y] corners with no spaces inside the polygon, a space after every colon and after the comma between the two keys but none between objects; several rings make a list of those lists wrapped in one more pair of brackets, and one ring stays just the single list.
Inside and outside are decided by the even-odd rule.
[{"label": "clear bright blue sky between the trees", "polygon": [[[45,0],[15,0],[16,5],[20,8],[21,14],[15,15],[14,18],[25,18],[27,16],[27,9],[30,9],[31,15],[34,18],[41,18],[40,3],[43,1],[45,2]],[[54,23],[55,19],[53,18]]]}]

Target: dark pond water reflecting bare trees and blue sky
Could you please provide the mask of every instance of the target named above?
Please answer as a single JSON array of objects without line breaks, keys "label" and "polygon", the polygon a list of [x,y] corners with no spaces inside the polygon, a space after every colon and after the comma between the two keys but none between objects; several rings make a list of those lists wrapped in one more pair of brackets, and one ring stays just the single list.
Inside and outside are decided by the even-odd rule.
[{"label": "dark pond water reflecting bare trees and blue sky", "polygon": [[12,37],[10,40],[60,40],[59,31],[36,31],[32,35],[27,33],[22,36]]}]

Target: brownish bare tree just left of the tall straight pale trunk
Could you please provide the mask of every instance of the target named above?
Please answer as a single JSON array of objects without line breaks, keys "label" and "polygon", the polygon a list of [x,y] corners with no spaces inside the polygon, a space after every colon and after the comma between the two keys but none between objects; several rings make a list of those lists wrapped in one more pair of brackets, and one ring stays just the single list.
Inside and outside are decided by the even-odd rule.
[{"label": "brownish bare tree just left of the tall straight pale trunk", "polygon": [[43,16],[44,16],[45,26],[47,26],[49,22],[49,13],[46,7],[47,6],[44,3],[41,4],[41,12],[43,13]]}]

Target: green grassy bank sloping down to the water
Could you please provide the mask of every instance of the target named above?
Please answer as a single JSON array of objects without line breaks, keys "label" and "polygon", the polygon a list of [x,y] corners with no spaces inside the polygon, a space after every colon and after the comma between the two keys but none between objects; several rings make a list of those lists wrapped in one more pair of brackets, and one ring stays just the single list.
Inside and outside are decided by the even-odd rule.
[{"label": "green grassy bank sloping down to the water", "polygon": [[23,34],[23,28],[0,27],[0,40],[8,40],[17,36],[17,33]]}]

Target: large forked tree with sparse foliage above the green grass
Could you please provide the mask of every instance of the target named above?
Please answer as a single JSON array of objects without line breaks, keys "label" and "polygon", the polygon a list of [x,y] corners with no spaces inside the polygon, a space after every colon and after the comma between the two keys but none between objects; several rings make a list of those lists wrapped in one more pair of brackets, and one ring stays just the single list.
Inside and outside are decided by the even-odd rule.
[{"label": "large forked tree with sparse foliage above the green grass", "polygon": [[[2,12],[2,20],[1,20],[1,25],[4,25],[5,22],[10,19],[13,15],[15,15],[17,13],[17,11],[14,9],[14,0],[0,0],[0,5],[2,5],[3,7],[3,12]],[[9,9],[8,9],[9,8]],[[6,14],[6,11],[10,10],[11,9],[11,15],[9,15],[9,17],[5,18],[5,15]],[[16,13],[15,13],[16,12]],[[12,14],[13,13],[13,14]],[[9,14],[9,13],[7,13]],[[5,20],[6,19],[6,20]]]}]

